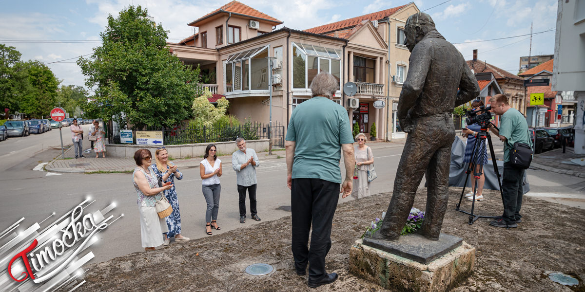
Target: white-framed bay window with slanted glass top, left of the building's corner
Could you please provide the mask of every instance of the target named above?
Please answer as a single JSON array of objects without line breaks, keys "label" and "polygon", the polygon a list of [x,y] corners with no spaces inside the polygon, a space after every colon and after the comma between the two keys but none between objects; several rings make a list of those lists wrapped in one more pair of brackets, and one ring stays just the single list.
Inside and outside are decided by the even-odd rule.
[{"label": "white-framed bay window with slanted glass top, left of the building's corner", "polygon": [[253,48],[228,56],[225,64],[226,92],[269,90],[269,46]]}]

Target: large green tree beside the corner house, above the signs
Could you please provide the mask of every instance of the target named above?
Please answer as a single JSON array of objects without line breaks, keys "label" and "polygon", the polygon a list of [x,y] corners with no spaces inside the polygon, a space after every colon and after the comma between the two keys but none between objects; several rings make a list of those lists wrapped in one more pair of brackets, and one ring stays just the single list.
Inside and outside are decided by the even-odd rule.
[{"label": "large green tree beside the corner house, above the signs", "polygon": [[173,55],[163,27],[146,16],[140,6],[129,6],[118,18],[109,15],[102,46],[77,61],[85,85],[97,88],[95,102],[83,106],[92,117],[135,128],[171,127],[191,117],[193,97],[201,92],[199,68]]}]

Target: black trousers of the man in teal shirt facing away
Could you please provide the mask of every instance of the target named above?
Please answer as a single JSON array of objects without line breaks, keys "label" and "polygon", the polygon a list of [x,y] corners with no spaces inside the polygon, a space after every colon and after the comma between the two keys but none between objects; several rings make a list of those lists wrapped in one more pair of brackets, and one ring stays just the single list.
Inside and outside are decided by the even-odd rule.
[{"label": "black trousers of the man in teal shirt facing away", "polygon": [[[292,179],[292,256],[297,272],[309,265],[309,278],[325,276],[325,256],[331,249],[331,224],[339,200],[339,183],[322,179]],[[311,248],[307,248],[309,230]]]}]

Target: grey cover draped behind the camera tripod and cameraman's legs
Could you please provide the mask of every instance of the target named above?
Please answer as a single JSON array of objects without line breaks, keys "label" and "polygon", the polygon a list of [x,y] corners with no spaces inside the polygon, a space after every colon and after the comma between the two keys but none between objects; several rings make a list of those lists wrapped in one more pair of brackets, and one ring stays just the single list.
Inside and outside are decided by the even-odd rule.
[{"label": "grey cover draped behind the camera tripod and cameraman's legs", "polygon": [[[463,186],[465,183],[465,172],[467,171],[467,167],[469,164],[463,163],[463,156],[465,155],[465,142],[461,140],[459,137],[455,137],[455,141],[451,146],[451,166],[449,171],[449,186]],[[489,147],[487,147],[489,151]],[[483,185],[484,189],[490,190],[500,190],[500,186],[498,185],[497,177],[494,173],[494,164],[491,161],[490,152],[488,152],[488,161],[487,164],[483,166],[483,173],[486,177],[486,182]],[[498,171],[500,175],[504,175],[504,162],[501,160],[497,161],[498,163]],[[472,186],[472,178],[470,177],[467,180],[466,189],[473,190]],[[524,193],[528,193],[530,190],[530,185],[528,185],[528,178],[526,178],[526,172],[524,172],[524,183],[522,183],[522,190]],[[466,192],[467,193],[467,192]]]}]

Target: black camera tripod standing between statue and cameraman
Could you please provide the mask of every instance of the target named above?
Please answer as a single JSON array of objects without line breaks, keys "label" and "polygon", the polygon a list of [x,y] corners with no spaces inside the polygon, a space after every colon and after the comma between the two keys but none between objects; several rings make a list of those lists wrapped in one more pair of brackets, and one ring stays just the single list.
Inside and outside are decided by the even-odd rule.
[{"label": "black camera tripod standing between statue and cameraman", "polygon": [[[500,186],[500,194],[502,196],[502,199],[504,198],[504,192],[502,190],[502,182],[500,180],[500,171],[498,170],[498,164],[497,164],[497,161],[495,160],[494,147],[493,147],[493,144],[491,143],[491,136],[487,130],[487,127],[489,124],[491,124],[491,126],[493,126],[496,130],[499,130],[490,121],[488,121],[487,123],[482,122],[480,124],[480,131],[477,132],[476,140],[475,140],[475,143],[473,144],[472,157],[470,159],[467,171],[465,172],[465,174],[466,174],[465,183],[463,184],[463,190],[461,191],[461,197],[459,197],[459,203],[457,203],[457,206],[455,208],[455,211],[459,211],[461,213],[465,213],[465,214],[469,215],[469,223],[467,223],[467,224],[470,224],[470,225],[473,224],[479,218],[494,218],[494,216],[483,216],[483,215],[478,215],[478,214],[473,213],[474,208],[475,208],[475,202],[476,202],[475,198],[476,198],[476,192],[477,192],[477,182],[478,182],[481,174],[483,173],[483,164],[479,163],[480,157],[481,157],[481,159],[483,159],[483,155],[480,155],[479,152],[480,152],[481,145],[486,144],[486,140],[490,146],[491,161],[493,161],[494,173],[495,173],[496,178],[498,179],[498,186]],[[481,154],[483,154],[483,153],[481,153]],[[478,165],[479,165],[479,171],[476,171],[476,168]],[[461,200],[463,199],[463,194],[465,193],[465,187],[467,186],[467,181],[469,180],[470,173],[473,173],[473,178],[475,179],[475,183],[473,186],[472,210],[470,212],[467,212],[464,210],[460,210],[459,207],[461,206]]]}]

